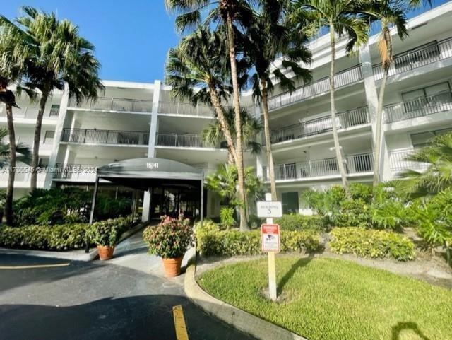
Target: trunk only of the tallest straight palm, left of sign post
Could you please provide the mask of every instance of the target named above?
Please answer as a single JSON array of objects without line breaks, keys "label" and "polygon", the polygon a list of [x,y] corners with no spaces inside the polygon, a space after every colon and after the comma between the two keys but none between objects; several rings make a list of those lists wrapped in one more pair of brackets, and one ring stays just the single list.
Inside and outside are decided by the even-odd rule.
[{"label": "trunk only of the tallest straight palm, left of sign post", "polygon": [[234,28],[232,27],[231,13],[227,13],[227,42],[229,45],[229,57],[231,63],[231,78],[232,90],[234,92],[234,122],[236,131],[236,148],[237,158],[235,163],[237,165],[238,182],[239,182],[239,199],[242,201],[240,205],[240,230],[249,230],[248,222],[246,221],[246,195],[245,195],[245,178],[244,178],[244,163],[243,163],[243,143],[242,143],[242,117],[240,117],[240,100],[239,100],[239,81],[237,78],[237,61],[235,59],[235,45],[234,45]]}]

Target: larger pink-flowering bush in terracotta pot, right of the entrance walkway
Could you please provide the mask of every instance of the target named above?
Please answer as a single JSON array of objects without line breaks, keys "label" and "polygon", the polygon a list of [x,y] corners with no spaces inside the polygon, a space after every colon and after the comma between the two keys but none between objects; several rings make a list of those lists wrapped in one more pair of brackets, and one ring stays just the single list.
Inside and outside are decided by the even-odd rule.
[{"label": "larger pink-flowering bush in terracotta pot, right of the entrance walkway", "polygon": [[191,242],[191,225],[188,218],[162,216],[157,226],[149,226],[143,232],[149,253],[162,257],[166,276],[178,276],[182,258]]}]

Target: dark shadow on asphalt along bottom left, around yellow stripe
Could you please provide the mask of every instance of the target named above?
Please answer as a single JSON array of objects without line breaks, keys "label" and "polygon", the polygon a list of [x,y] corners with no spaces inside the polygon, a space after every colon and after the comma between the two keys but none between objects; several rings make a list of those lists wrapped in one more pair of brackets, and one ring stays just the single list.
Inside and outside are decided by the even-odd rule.
[{"label": "dark shadow on asphalt along bottom left, around yellow stripe", "polygon": [[252,339],[180,295],[103,298],[70,307],[1,305],[2,339],[176,339],[172,307],[182,305],[189,339]]}]

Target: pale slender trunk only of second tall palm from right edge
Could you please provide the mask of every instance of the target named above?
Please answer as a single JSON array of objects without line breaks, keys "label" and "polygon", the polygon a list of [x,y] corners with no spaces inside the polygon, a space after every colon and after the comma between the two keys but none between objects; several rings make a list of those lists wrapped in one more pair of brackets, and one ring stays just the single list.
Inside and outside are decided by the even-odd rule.
[{"label": "pale slender trunk only of second tall palm from right edge", "polygon": [[331,43],[331,69],[330,69],[331,127],[333,128],[334,148],[336,152],[336,159],[338,160],[340,177],[342,178],[342,184],[345,189],[345,192],[347,192],[348,194],[347,172],[345,172],[345,164],[342,156],[342,151],[340,149],[338,127],[336,124],[336,107],[334,99],[335,36],[333,23],[330,23],[330,43]]}]

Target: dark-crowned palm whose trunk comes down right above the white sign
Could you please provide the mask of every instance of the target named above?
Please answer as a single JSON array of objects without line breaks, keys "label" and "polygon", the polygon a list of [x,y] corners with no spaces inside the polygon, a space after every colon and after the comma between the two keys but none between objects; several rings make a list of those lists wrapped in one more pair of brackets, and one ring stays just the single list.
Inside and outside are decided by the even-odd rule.
[{"label": "dark-crowned palm whose trunk comes down right above the white sign", "polygon": [[[311,63],[311,52],[302,45],[307,42],[304,33],[294,34],[285,18],[289,1],[265,0],[261,3],[261,11],[255,13],[253,25],[247,30],[249,44],[246,44],[245,54],[249,55],[254,65],[255,72],[251,75],[253,97],[262,107],[270,192],[272,199],[276,201],[278,197],[271,150],[268,95],[273,91],[273,77],[279,81],[281,88],[290,92],[295,90],[294,79],[287,78],[283,71],[291,71],[295,78],[302,78],[304,82],[311,81],[309,69],[299,66],[300,62]],[[275,64],[276,59],[278,65]]]}]

